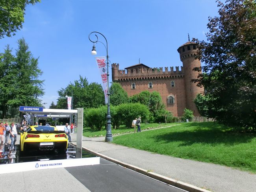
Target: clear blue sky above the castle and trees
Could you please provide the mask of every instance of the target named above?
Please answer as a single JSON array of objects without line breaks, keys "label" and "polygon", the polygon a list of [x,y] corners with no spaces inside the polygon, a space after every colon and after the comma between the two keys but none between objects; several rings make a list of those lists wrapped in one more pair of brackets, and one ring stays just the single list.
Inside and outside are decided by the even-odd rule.
[{"label": "clear blue sky above the castle and trees", "polygon": [[[215,0],[41,0],[26,7],[22,30],[0,39],[13,54],[24,37],[45,80],[41,100],[48,108],[70,82],[86,77],[101,83],[93,44],[88,35],[99,31],[108,40],[111,63],[119,69],[143,63],[150,67],[182,66],[177,48],[190,38],[206,40],[208,16],[217,16]],[[99,41],[105,42],[103,37]],[[106,50],[96,44],[97,56]],[[109,67],[111,81],[111,64]]]}]

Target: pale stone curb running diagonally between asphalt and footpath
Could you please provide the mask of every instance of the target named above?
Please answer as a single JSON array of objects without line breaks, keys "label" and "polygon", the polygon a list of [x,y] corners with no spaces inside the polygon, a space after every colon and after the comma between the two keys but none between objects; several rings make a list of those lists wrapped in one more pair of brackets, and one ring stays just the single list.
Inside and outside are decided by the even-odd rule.
[{"label": "pale stone curb running diagonally between asphalt and footpath", "polygon": [[153,179],[157,179],[159,181],[162,181],[164,183],[167,183],[169,185],[173,185],[173,186],[176,186],[178,188],[181,188],[181,189],[184,189],[184,190],[187,190],[189,192],[211,192],[209,190],[206,190],[206,189],[203,189],[203,188],[199,188],[197,186],[194,186],[194,185],[190,185],[188,183],[184,183],[182,181],[177,181],[175,179],[171,179],[169,177],[165,177],[163,175],[160,175],[160,174],[156,174],[156,173],[153,173],[153,172],[148,172],[148,170],[145,170],[145,169],[142,169],[142,168],[139,168],[139,167],[136,167],[134,165],[130,165],[130,164],[127,164],[127,163],[124,163],[122,161],[119,161],[117,159],[113,159],[111,157],[108,157],[106,155],[102,155],[100,153],[97,153],[95,151],[92,151],[92,150],[89,150],[85,147],[82,147],[83,150],[89,152],[89,153],[92,153],[93,155],[96,155],[98,157],[101,157],[102,159],[106,159],[108,161],[111,161],[115,164],[119,164],[125,168],[128,168],[130,170],[133,170],[135,172],[138,172],[140,174],[143,174],[143,175],[147,175],[148,177],[151,177]]}]

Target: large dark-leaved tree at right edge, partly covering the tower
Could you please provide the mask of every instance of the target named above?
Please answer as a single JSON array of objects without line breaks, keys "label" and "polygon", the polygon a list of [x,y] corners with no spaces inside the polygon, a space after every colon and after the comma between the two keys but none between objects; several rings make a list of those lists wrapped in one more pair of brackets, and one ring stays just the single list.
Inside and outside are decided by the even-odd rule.
[{"label": "large dark-leaved tree at right edge, partly covering the tower", "polygon": [[[194,79],[204,86],[208,117],[230,126],[256,128],[256,2],[218,1],[209,18],[208,42],[197,41],[206,65]],[[200,68],[194,70],[200,71]]]}]

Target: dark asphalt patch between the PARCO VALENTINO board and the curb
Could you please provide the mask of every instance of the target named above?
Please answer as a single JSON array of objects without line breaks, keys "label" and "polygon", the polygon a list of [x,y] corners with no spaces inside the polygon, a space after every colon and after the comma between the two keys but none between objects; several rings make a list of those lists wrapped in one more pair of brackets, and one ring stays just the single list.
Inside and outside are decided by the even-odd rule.
[{"label": "dark asphalt patch between the PARCO VALENTINO board and the curb", "polygon": [[185,192],[102,158],[99,165],[65,169],[91,192]]}]

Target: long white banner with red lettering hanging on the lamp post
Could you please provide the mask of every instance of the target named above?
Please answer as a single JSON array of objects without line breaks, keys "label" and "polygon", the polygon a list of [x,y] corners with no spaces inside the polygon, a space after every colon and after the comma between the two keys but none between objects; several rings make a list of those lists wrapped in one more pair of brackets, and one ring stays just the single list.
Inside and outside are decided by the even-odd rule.
[{"label": "long white banner with red lettering hanging on the lamp post", "polygon": [[107,87],[107,65],[105,63],[106,57],[95,57],[96,63],[98,65],[98,68],[100,70],[100,75],[102,79],[102,87],[104,90],[104,95],[105,95],[105,103],[108,103],[108,87]]}]

